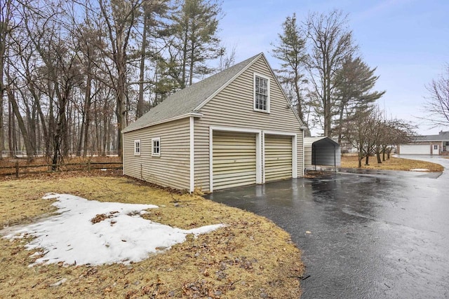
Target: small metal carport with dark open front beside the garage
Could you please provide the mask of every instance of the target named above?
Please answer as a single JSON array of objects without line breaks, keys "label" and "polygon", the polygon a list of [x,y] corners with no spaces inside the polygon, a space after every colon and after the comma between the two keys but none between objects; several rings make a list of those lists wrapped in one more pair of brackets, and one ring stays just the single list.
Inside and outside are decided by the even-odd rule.
[{"label": "small metal carport with dark open front beside the garage", "polygon": [[306,137],[304,138],[304,169],[317,170],[341,165],[340,144],[329,137]]}]

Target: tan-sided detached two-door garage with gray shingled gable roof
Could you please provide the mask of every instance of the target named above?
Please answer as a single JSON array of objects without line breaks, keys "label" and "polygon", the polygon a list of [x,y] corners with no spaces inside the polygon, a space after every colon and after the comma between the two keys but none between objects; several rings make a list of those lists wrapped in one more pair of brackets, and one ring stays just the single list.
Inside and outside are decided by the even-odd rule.
[{"label": "tan-sided detached two-door garage with gray shingled gable roof", "polygon": [[304,174],[303,125],[263,53],[175,92],[123,130],[123,174],[213,190]]}]

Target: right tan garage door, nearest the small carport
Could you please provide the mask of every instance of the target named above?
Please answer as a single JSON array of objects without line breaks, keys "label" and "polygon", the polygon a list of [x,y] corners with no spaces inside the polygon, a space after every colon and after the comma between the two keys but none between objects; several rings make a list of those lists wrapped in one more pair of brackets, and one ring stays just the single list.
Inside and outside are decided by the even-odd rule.
[{"label": "right tan garage door, nearest the small carport", "polygon": [[292,177],[292,137],[265,135],[265,181]]}]

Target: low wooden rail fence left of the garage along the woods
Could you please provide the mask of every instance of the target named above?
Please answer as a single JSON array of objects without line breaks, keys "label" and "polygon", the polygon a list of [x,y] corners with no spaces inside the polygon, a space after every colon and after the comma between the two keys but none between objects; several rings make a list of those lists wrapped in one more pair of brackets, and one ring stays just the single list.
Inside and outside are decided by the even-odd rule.
[{"label": "low wooden rail fence left of the garage along the woods", "polygon": [[[119,165],[119,166],[113,166]],[[90,172],[94,169],[122,169],[123,162],[81,162],[66,164],[46,164],[46,165],[19,165],[15,162],[14,166],[0,167],[0,176],[15,176],[20,174],[41,174],[45,172],[69,172],[83,170]],[[53,170],[56,169],[56,170]],[[8,170],[11,170],[8,172]]]}]

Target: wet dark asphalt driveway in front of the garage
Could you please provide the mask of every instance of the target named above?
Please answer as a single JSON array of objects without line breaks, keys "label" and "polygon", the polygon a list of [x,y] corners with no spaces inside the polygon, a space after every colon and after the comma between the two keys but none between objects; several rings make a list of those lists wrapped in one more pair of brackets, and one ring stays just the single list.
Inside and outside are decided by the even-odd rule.
[{"label": "wet dark asphalt driveway in front of the garage", "polygon": [[209,198],[290,232],[310,275],[302,298],[449,298],[449,159],[407,158],[446,171],[337,173]]}]

